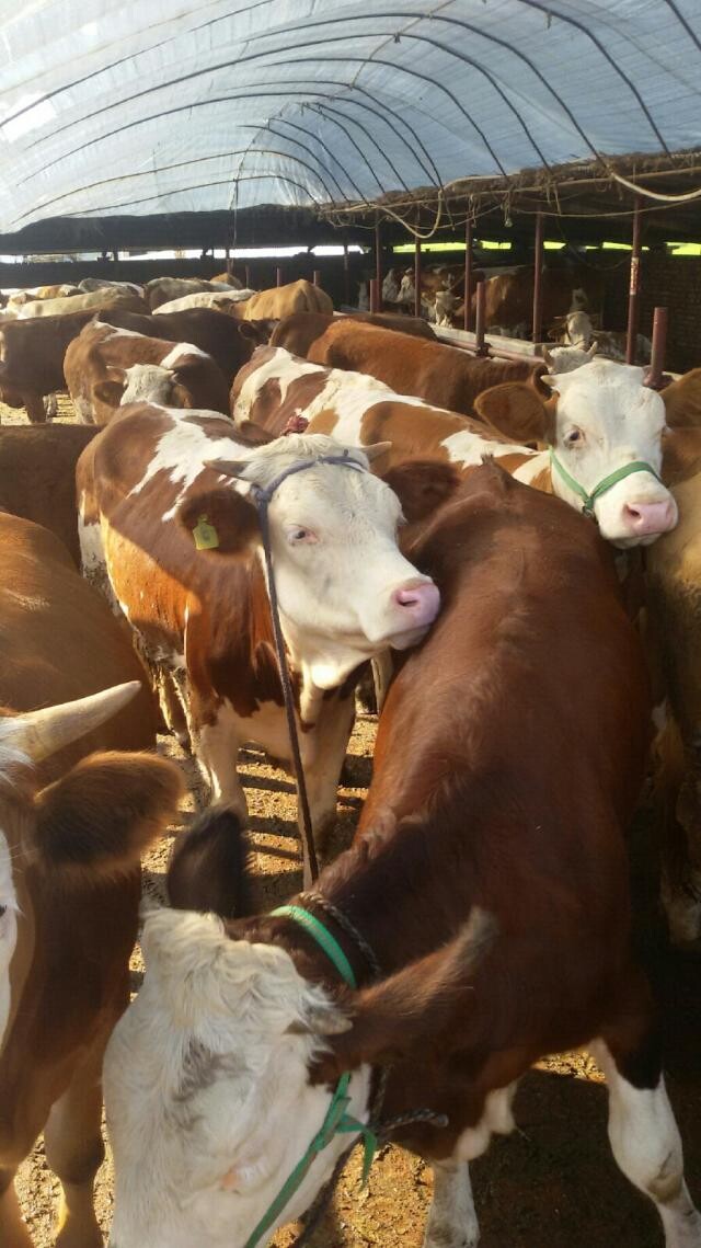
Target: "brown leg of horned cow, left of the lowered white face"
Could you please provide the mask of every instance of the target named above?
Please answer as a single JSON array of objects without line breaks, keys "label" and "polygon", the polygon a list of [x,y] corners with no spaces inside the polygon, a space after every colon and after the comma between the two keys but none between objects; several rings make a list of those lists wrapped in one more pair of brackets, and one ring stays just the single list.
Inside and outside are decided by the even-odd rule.
[{"label": "brown leg of horned cow, left of the lowered white face", "polygon": [[44,1128],[46,1161],[62,1188],[56,1248],[102,1248],[92,1189],[105,1158],[100,1132],[104,1048],[104,1043],[94,1046],[51,1107]]}]

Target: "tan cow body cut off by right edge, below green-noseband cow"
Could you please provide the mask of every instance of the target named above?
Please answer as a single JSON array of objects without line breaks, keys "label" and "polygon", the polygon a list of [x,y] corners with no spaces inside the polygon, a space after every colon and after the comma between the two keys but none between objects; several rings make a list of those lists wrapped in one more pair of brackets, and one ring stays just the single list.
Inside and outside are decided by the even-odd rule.
[{"label": "tan cow body cut off by right edge, below green-noseband cow", "polygon": [[701,937],[701,429],[667,436],[662,477],[680,520],[646,558],[646,633],[659,686],[655,795],[670,935],[690,946]]}]

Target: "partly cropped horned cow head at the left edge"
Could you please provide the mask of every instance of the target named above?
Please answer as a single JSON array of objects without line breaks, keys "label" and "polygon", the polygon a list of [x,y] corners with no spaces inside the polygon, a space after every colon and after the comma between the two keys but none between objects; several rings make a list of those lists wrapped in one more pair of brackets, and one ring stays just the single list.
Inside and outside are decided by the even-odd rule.
[{"label": "partly cropped horned cow head at the left edge", "polygon": [[[42,872],[80,911],[80,890],[133,871],[175,814],[172,764],[140,754],[94,754],[40,789],[36,766],[94,731],[138,681],[45,710],[0,713],[0,1047],[30,973],[32,881]],[[45,890],[42,890],[45,891]]]}]

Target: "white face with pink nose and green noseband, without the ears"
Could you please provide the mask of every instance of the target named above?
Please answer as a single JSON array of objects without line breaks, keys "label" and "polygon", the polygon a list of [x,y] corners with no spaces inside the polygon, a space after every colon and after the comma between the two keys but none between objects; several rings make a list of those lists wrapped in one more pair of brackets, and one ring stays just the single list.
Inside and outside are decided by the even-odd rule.
[{"label": "white face with pink nose and green noseband, without the ears", "polygon": [[[549,378],[559,393],[555,453],[587,492],[635,461],[661,469],[665,404],[642,376],[641,368],[596,358]],[[553,484],[568,503],[581,507],[555,468]],[[601,537],[617,547],[650,545],[677,522],[672,495],[651,472],[619,480],[595,500],[594,512]]]}]

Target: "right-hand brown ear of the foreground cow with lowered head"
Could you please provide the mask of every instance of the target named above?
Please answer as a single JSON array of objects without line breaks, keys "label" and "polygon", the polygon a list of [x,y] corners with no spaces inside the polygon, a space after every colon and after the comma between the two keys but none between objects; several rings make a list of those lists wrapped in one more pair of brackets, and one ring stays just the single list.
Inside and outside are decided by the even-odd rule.
[{"label": "right-hand brown ear of the foreground cow with lowered head", "polygon": [[449,945],[344,998],[352,1026],[329,1038],[331,1056],[319,1062],[323,1076],[392,1062],[417,1047],[425,1052],[430,1035],[440,1035],[474,996],[474,976],[495,938],[495,920],[475,907]]}]

